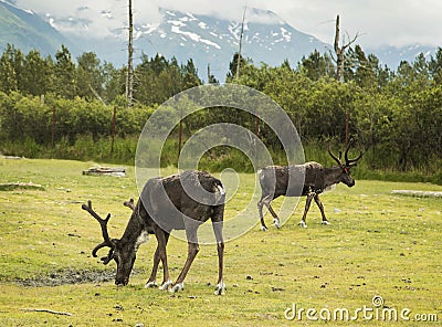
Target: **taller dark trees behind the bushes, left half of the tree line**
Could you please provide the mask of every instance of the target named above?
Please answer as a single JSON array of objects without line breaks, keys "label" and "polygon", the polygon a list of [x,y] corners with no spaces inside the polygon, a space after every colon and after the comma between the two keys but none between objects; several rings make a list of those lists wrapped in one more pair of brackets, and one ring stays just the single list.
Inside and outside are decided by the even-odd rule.
[{"label": "taller dark trees behind the bushes, left half of the tree line", "polygon": [[[127,67],[116,68],[102,62],[95,53],[86,52],[72,59],[64,45],[55,56],[42,57],[38,50],[28,54],[8,44],[0,57],[0,92],[23,95],[55,94],[60,98],[99,99],[105,104],[120,102],[125,94]],[[135,70],[135,98],[144,105],[160,104],[176,93],[201,84],[191,59],[179,64],[146,54]]]}]

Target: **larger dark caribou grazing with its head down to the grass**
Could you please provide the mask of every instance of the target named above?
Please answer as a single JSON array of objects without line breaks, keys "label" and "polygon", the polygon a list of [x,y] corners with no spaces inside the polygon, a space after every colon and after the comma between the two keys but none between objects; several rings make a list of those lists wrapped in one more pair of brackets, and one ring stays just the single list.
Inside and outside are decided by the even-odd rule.
[{"label": "larger dark caribou grazing with its head down to the grass", "polygon": [[[107,223],[110,213],[102,219],[93,209],[92,203],[83,204],[82,209],[91,213],[102,228],[104,242],[92,251],[94,257],[102,247],[110,247],[107,256],[102,257],[104,264],[112,260],[117,263],[116,285],[127,285],[139,245],[148,240],[148,234],[155,234],[158,245],[154,255],[154,266],[146,287],[157,286],[156,277],[159,262],[162,262],[164,278],[160,289],[171,293],[183,289],[186,275],[199,251],[197,231],[207,220],[211,219],[217,240],[219,275],[215,294],[223,294],[223,255],[222,236],[225,191],[221,181],[204,171],[185,171],[165,178],[149,179],[144,187],[138,202],[125,202],[133,210],[122,239],[110,239]],[[188,240],[188,256],[177,281],[172,283],[169,276],[166,246],[172,230],[186,230]]]}]

